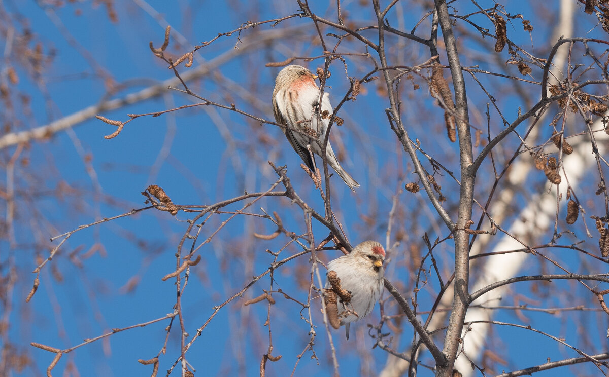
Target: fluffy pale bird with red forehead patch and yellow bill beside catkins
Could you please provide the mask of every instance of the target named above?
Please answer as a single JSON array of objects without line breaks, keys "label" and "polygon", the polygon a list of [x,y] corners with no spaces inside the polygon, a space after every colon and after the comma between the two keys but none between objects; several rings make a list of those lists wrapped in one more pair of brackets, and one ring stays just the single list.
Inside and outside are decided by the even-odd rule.
[{"label": "fluffy pale bird with red forehead patch and yellow bill beside catkins", "polygon": [[[351,293],[347,304],[339,299],[340,325],[345,326],[349,339],[351,322],[361,320],[375,307],[383,288],[385,249],[376,241],[364,241],[353,248],[351,254],[343,255],[328,263],[328,272],[336,271],[340,288]],[[326,289],[331,289],[326,283]],[[342,305],[342,306],[341,306]],[[350,311],[357,313],[357,316]]]}]

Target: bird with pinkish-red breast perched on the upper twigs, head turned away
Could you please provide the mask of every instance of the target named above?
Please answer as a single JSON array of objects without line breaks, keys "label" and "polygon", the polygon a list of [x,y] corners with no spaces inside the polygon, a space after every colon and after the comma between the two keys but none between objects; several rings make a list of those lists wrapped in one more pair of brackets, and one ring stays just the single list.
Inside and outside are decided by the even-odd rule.
[{"label": "bird with pinkish-red breast perched on the upper twigs, head turned away", "polygon": [[[329,116],[321,117],[321,122],[317,122],[318,114],[315,113],[315,109],[319,106],[319,88],[315,83],[315,78],[317,75],[312,74],[305,67],[293,64],[279,72],[275,79],[275,90],[273,90],[275,120],[277,123],[287,125],[287,128],[283,129],[283,133],[286,134],[292,148],[300,154],[312,171],[315,171],[315,159],[309,154],[306,146],[311,144],[311,151],[317,156],[322,156],[322,148],[317,142],[312,141],[311,137],[292,130],[303,131],[309,135],[317,134],[322,142],[326,136]],[[319,109],[322,114],[325,111],[328,111],[328,115],[334,112],[327,92],[323,94],[322,106]],[[359,187],[359,184],[340,167],[329,142],[326,147],[326,159],[340,178],[355,192],[355,188]]]}]

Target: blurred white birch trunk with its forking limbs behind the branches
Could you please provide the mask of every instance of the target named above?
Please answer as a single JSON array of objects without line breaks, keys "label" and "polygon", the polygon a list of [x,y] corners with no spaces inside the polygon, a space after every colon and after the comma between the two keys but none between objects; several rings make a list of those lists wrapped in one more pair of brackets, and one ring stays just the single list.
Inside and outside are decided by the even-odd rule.
[{"label": "blurred white birch trunk with its forking limbs behind the branches", "polygon": [[[573,14],[575,11],[574,7],[574,2],[571,0],[560,1],[560,21],[558,22],[557,27],[554,30],[554,36],[552,38],[553,41],[558,41],[560,36],[565,36],[566,38],[572,36]],[[554,57],[555,67],[565,67],[567,61],[567,53],[568,49],[566,48],[566,46],[563,46],[558,50],[557,54]],[[549,83],[555,82],[552,77],[560,78],[562,76],[561,72],[558,71],[558,69],[556,69],[555,67],[551,69],[554,75],[550,75]],[[541,122],[539,123],[541,124]],[[595,124],[595,126],[598,127],[597,124]],[[529,139],[534,140],[536,137],[536,133],[537,130],[533,130],[532,133],[529,134]],[[584,158],[584,156],[586,158]],[[579,167],[574,170],[569,170],[569,168],[572,168],[572,165],[569,161],[572,161],[573,164],[582,165],[579,165]],[[567,171],[579,171],[580,174],[582,174],[583,171],[586,170],[585,168],[583,168],[584,166],[590,168],[590,164],[596,164],[596,161],[594,161],[594,157],[590,156],[590,144],[585,142],[583,142],[579,148],[576,148],[576,151],[574,151],[571,156],[568,156],[568,158],[565,158],[563,162],[565,163],[565,169]],[[495,204],[493,204],[493,207],[490,210],[490,212],[493,214],[494,220],[498,224],[501,224],[504,220],[503,214],[508,212],[507,207],[513,206],[512,199],[515,196],[516,192],[512,189],[512,187],[520,187],[522,184],[524,184],[532,167],[533,164],[531,161],[523,161],[522,159],[519,159],[514,162],[513,167],[510,168],[510,171],[507,173],[505,179],[510,182],[510,185],[506,189],[502,190],[501,193],[499,193],[498,200],[495,202]],[[572,184],[577,183],[571,181],[571,179],[577,181],[576,176],[572,176],[571,174],[569,174],[569,181]],[[559,187],[558,189],[564,193],[566,190],[563,188],[563,186]],[[543,201],[541,200],[542,196],[544,199]],[[523,209],[523,213],[520,216],[520,219],[527,219],[530,221],[530,223],[526,223],[525,226],[523,221],[518,221],[517,223],[513,224],[512,227],[510,227],[510,233],[516,235],[516,237],[520,237],[521,240],[526,240],[526,233],[530,231],[531,224],[535,224],[535,226],[538,227],[540,232],[547,230],[549,225],[552,224],[552,216],[555,215],[555,198],[555,189],[551,194],[535,196],[535,198],[531,200],[532,204],[530,204],[529,206],[525,206]],[[540,207],[539,209],[535,209],[535,203],[538,203],[538,206]],[[541,215],[541,212],[545,213],[545,215]],[[490,243],[492,240],[492,237],[479,236],[477,242],[472,247],[470,254],[480,254],[481,250],[485,249],[485,246],[487,246],[488,243]],[[523,247],[522,244],[516,242],[511,237],[504,236],[499,241],[499,243],[496,244],[492,251],[520,249],[521,247]],[[485,252],[488,251],[485,250]],[[529,255],[524,253],[511,253],[507,255],[498,255],[496,257],[485,258],[484,265],[480,265],[480,263],[478,263],[479,268],[482,269],[482,278],[473,285],[471,285],[470,291],[474,292],[477,289],[482,288],[483,286],[487,286],[489,283],[515,276],[521,269],[524,260],[526,260],[527,256]],[[477,302],[484,302],[484,300],[491,299],[491,297],[501,296],[501,294],[505,292],[505,289],[509,288],[502,287],[499,290],[496,289],[495,291],[482,296],[480,299],[477,300]],[[439,306],[441,308],[450,308],[452,306],[452,297],[453,291],[451,287],[446,290]],[[488,311],[470,308],[466,316],[466,321],[476,319],[488,320],[490,319],[491,314],[492,313],[489,313]],[[436,313],[429,325],[428,330],[433,331],[445,325],[447,315],[448,312],[442,314]],[[477,361],[479,359],[487,332],[488,325],[480,323],[477,324],[476,328],[474,328],[474,330],[468,333],[467,335],[465,351],[467,355],[474,361]],[[423,351],[424,349],[425,348],[421,346],[421,351]],[[403,376],[407,372],[408,367],[409,362],[405,361],[404,359],[396,358],[393,355],[389,355],[387,357],[387,361],[385,362],[385,366],[381,370],[381,373],[379,373],[379,376]],[[462,355],[457,358],[455,368],[463,374],[463,377],[470,377],[473,372],[470,361],[468,361],[468,359],[463,357]]]}]

